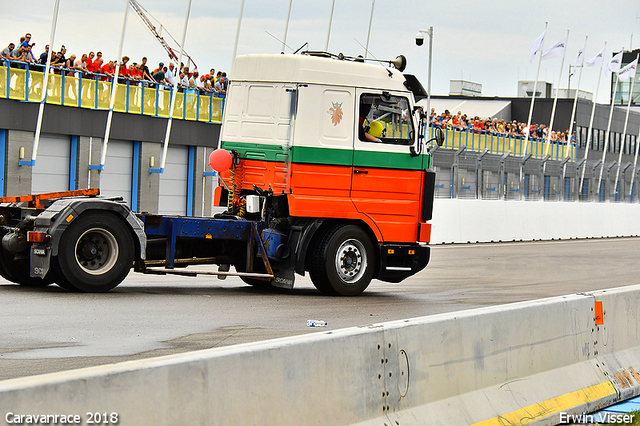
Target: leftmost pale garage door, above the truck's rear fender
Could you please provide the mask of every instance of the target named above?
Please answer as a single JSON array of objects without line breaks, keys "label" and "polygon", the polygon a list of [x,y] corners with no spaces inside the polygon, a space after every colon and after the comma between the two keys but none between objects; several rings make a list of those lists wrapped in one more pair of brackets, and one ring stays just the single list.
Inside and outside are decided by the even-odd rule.
[{"label": "leftmost pale garage door, above the truck's rear fender", "polygon": [[31,193],[69,190],[71,137],[40,135],[38,157],[31,174]]}]

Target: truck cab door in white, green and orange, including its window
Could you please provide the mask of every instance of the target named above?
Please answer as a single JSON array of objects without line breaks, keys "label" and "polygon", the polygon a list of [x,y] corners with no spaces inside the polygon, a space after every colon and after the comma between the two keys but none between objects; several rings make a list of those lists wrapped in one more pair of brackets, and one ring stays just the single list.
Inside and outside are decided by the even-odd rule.
[{"label": "truck cab door in white, green and orange, including its window", "polygon": [[359,89],[351,200],[385,242],[416,242],[423,156],[412,157],[416,124],[409,95]]}]

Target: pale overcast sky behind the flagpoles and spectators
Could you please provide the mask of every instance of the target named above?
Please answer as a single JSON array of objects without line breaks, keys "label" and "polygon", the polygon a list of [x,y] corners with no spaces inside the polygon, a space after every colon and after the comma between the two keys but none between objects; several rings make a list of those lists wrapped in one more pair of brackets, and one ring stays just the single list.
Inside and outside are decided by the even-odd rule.
[{"label": "pale overcast sky behind the flagpoles and spectators", "polygon": [[[138,0],[156,25],[162,24],[180,41],[186,0]],[[240,0],[192,0],[185,51],[200,71],[229,71],[232,63]],[[76,55],[101,50],[115,59],[122,30],[125,0],[60,0],[54,49],[66,45]],[[297,49],[308,42],[312,50],[324,50],[332,0],[293,0],[287,45]],[[329,51],[364,54],[372,0],[335,0]],[[8,11],[2,23],[2,47],[17,42],[26,32],[33,35],[40,54],[49,39],[54,0],[36,0],[28,11],[15,15],[15,0],[0,0]],[[285,31],[289,0],[245,0],[238,54],[279,53]],[[11,17],[9,17],[9,15]],[[568,84],[573,62],[589,36],[586,55],[595,55],[607,42],[612,51],[640,47],[638,0],[493,0],[479,2],[376,0],[369,51],[379,59],[407,57],[406,72],[416,74],[426,87],[428,44],[415,45],[418,29],[434,28],[432,92],[446,95],[449,80],[482,84],[483,96],[515,96],[518,80],[535,78],[537,59],[529,62],[529,47],[548,21],[545,46],[561,40],[571,30],[560,87]],[[268,32],[268,33],[267,33]],[[633,34],[633,35],[632,35]],[[165,34],[163,34],[165,35]],[[167,37],[168,38],[168,37]],[[291,50],[285,49],[287,53]],[[150,65],[167,62],[160,44],[130,9],[123,54]],[[371,56],[371,55],[369,55]],[[558,84],[560,58],[542,62],[540,80]],[[153,68],[152,68],[153,69]],[[571,87],[577,84],[577,72]],[[597,69],[585,68],[580,88],[595,91]],[[603,75],[598,102],[608,102],[608,79]]]}]

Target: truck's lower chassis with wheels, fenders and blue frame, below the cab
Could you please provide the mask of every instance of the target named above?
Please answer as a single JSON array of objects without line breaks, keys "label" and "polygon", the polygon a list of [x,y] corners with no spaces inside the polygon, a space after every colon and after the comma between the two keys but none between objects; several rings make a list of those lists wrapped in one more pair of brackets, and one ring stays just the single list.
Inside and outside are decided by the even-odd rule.
[{"label": "truck's lower chassis with wheels, fenders and blue frame, below the cab", "polygon": [[[132,268],[283,288],[309,272],[321,292],[353,296],[373,278],[398,282],[429,261],[426,245],[376,244],[355,222],[278,217],[278,197],[261,198],[253,217],[211,218],[136,214],[98,190],[0,198],[0,275],[24,286],[106,292]],[[185,269],[202,264],[219,268]]]}]

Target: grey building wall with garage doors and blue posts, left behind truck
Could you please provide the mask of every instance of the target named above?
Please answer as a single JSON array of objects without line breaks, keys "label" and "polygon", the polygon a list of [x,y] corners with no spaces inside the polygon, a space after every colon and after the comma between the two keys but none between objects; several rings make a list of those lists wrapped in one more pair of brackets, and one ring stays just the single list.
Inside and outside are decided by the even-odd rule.
[{"label": "grey building wall with garage doors and blue posts, left behind truck", "polygon": [[161,171],[166,118],[113,114],[100,167],[108,112],[46,104],[31,164],[39,104],[0,99],[0,196],[100,188],[137,212],[210,215],[216,185],[207,165],[220,124],[174,119]]}]

